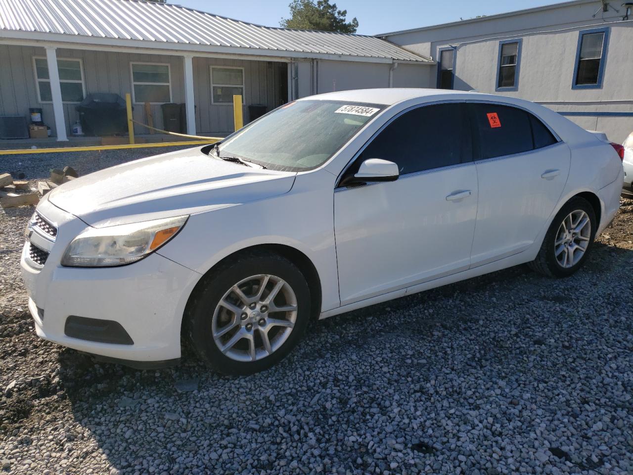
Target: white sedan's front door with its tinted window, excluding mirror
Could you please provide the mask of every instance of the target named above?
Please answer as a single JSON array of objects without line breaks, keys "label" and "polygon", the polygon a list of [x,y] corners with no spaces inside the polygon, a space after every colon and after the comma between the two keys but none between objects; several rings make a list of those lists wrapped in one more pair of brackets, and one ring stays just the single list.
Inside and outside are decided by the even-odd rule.
[{"label": "white sedan's front door with its tinted window, excluding mirror", "polygon": [[398,164],[393,182],[339,187],[334,231],[341,304],[468,269],[477,215],[465,105],[406,111],[360,153]]}]

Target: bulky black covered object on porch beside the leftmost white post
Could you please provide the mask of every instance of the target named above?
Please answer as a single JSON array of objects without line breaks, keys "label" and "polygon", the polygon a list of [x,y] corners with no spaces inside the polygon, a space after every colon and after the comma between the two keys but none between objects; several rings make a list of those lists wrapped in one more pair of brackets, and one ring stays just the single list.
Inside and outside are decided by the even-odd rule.
[{"label": "bulky black covered object on porch beside the leftmost white post", "polygon": [[83,132],[87,136],[127,135],[125,99],[110,92],[88,94],[75,107]]}]

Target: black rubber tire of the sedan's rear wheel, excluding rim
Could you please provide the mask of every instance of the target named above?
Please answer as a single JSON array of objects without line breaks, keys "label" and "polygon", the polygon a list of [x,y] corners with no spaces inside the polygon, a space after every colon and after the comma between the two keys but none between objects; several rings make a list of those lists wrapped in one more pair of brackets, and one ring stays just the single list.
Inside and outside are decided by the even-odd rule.
[{"label": "black rubber tire of the sedan's rear wheel, excluding rim", "polygon": [[[583,211],[587,213],[587,216],[589,217],[589,222],[591,223],[589,241],[580,260],[571,267],[563,267],[563,265],[561,265],[556,259],[555,242],[563,220],[570,215],[570,213],[576,211]],[[598,222],[596,221],[596,213],[589,201],[580,197],[572,198],[565,203],[558,213],[556,213],[551,225],[549,225],[548,232],[543,239],[541,249],[536,256],[536,259],[529,263],[530,268],[547,277],[561,278],[571,276],[574,272],[580,269],[580,267],[582,267],[587,259],[587,255],[591,252],[597,229]]]}]

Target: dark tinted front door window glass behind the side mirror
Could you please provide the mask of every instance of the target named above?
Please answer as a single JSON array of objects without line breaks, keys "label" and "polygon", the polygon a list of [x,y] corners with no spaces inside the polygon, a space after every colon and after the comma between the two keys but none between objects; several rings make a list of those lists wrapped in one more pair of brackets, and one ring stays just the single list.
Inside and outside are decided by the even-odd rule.
[{"label": "dark tinted front door window glass behind the side mirror", "polygon": [[397,163],[404,175],[470,161],[466,120],[465,105],[458,103],[408,111],[387,125],[356,163],[382,158]]}]

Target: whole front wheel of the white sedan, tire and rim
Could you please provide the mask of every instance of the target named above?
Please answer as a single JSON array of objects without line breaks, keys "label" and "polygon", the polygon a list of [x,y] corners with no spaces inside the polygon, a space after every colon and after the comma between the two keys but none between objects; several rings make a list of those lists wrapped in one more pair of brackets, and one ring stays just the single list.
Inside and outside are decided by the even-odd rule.
[{"label": "whole front wheel of the white sedan, tire and rim", "polygon": [[251,374],[297,345],[310,316],[299,269],[271,253],[242,256],[204,279],[187,305],[189,339],[223,374]]}]

